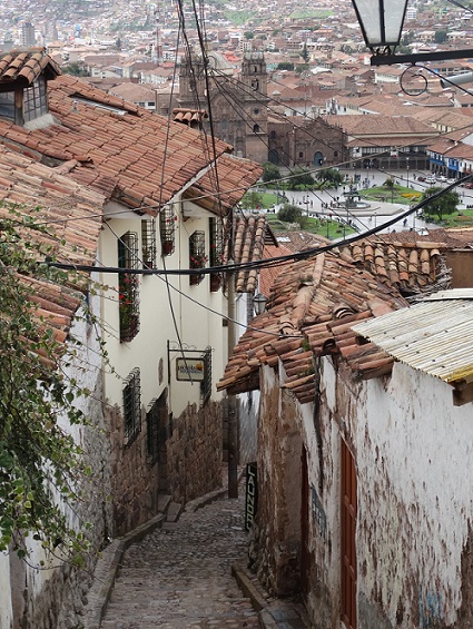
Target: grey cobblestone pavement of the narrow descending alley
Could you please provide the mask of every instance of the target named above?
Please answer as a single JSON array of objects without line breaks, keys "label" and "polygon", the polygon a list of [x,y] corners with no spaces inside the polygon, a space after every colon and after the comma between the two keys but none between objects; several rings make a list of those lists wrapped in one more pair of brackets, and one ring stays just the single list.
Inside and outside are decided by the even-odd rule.
[{"label": "grey cobblestone pavement of the narrow descending alley", "polygon": [[257,612],[230,574],[247,548],[244,501],[220,499],[131,546],[102,629],[254,629]]}]

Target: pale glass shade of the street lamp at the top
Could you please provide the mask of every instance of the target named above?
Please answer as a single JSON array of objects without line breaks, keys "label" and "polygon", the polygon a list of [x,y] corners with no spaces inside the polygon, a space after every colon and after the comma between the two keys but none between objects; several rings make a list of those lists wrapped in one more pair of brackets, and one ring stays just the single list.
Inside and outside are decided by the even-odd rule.
[{"label": "pale glass shade of the street lamp at the top", "polygon": [[352,0],[371,49],[396,47],[401,41],[407,0]]}]

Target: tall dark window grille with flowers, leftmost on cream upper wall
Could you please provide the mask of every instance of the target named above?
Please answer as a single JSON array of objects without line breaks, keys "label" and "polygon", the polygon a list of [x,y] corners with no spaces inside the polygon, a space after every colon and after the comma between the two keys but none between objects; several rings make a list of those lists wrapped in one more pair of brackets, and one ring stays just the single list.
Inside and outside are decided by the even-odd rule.
[{"label": "tall dark window grille with flowers, leftmost on cream upper wall", "polygon": [[[138,268],[138,235],[127,232],[118,240],[118,266]],[[139,332],[139,279],[135,273],[120,273],[118,278],[120,341],[131,341]]]}]

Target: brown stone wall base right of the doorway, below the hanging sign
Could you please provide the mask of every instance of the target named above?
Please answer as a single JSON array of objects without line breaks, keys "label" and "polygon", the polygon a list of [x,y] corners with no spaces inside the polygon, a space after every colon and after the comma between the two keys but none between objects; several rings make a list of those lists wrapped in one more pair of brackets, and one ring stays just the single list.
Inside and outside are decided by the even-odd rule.
[{"label": "brown stone wall base right of the doorway, below the hanging sign", "polygon": [[173,421],[167,474],[174,502],[186,503],[221,487],[221,403],[187,406]]}]

